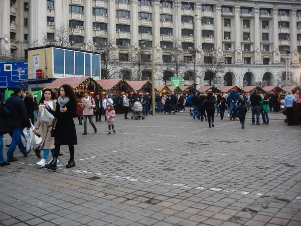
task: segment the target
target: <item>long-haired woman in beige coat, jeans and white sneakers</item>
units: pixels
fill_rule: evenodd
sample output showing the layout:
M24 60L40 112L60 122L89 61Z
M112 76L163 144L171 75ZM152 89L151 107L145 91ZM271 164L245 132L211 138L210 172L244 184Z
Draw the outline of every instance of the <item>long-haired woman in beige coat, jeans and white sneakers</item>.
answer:
M55 148L54 138L51 137L51 130L52 130L54 121L52 123L41 123L41 121L40 121L41 113L42 113L45 103L47 103L52 110L54 110L54 111L56 110L57 101L53 99L53 92L51 89L43 90L43 95L42 95L42 98L39 103L40 107L39 107L38 119L37 119L35 129L33 130L33 133L38 132L39 134L41 134L42 146L40 147L40 150L44 150L44 153L43 153L43 158L41 159L41 161L37 162L37 165L43 166L43 167L46 165L46 163L48 161L48 156L49 156L50 151L52 154L52 159L54 158L54 148Z

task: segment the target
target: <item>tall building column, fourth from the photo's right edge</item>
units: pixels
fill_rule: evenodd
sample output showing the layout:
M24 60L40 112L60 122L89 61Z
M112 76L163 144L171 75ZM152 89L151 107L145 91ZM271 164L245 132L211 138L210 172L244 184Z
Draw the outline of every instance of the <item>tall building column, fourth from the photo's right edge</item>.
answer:
M234 7L235 12L235 64L242 64L240 6Z

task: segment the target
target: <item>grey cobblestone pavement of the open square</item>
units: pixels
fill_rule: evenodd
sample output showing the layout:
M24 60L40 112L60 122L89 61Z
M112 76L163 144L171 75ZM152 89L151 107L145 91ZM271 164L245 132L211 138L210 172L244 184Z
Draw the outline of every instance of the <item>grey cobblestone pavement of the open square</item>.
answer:
M19 150L0 168L0 225L300 226L301 127L277 116L242 130L188 113L117 115L116 134L102 122L87 136L76 120L76 167L64 147L57 172Z

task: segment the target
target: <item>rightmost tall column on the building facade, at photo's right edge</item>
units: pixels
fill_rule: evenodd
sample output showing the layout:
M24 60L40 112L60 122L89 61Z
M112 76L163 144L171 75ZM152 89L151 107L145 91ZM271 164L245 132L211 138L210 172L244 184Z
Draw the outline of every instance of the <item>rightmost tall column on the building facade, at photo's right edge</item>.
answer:
M299 65L299 56L297 51L297 10L290 11L290 51L292 51L292 65Z

